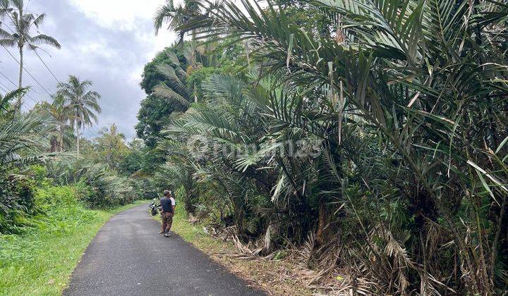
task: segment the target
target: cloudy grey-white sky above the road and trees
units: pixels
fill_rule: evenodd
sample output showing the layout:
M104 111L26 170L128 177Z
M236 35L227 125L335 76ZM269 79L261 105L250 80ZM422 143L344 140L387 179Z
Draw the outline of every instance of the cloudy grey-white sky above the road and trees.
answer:
M171 32L155 36L152 17L164 0L25 0L28 11L47 13L40 32L55 37L60 50L50 47L48 54L40 52L59 81L69 74L90 79L94 90L102 94L102 113L95 128L85 135L92 137L97 130L110 123L131 139L139 103L145 97L140 89L141 73L145 63L158 51L174 42ZM18 58L16 49L9 49ZM56 90L56 80L40 59L26 51L25 68L49 93ZM0 47L0 91L12 90L18 81L18 63ZM6 77L4 77L4 75ZM35 101L47 100L49 95L37 82L23 73L23 85L31 85L30 97ZM27 106L34 105L30 98Z

